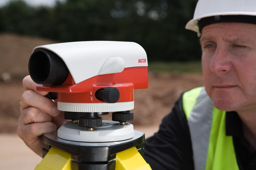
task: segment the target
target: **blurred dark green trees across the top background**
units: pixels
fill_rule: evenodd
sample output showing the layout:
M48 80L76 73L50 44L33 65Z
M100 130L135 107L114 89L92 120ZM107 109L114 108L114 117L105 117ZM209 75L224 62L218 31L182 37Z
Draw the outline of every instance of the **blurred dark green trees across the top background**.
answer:
M149 61L200 60L196 33L185 30L197 0L67 0L32 7L21 0L0 8L0 32L68 41L134 41Z

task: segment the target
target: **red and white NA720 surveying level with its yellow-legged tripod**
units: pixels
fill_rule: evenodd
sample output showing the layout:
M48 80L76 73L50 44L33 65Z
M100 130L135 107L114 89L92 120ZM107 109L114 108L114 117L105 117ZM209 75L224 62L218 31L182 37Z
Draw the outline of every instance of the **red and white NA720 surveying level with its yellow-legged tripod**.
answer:
M44 134L36 170L150 170L145 134L133 120L134 89L148 87L145 50L134 42L81 41L38 46L29 59L38 91L58 101L65 122ZM112 121L99 115L112 113Z

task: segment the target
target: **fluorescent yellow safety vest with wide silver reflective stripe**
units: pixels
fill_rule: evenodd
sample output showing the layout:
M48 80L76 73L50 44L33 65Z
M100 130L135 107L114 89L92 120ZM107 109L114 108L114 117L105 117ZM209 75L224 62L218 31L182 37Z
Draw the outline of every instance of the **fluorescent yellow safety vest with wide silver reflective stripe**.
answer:
M204 87L183 94L195 170L239 170L231 136L226 136L225 111L214 107Z

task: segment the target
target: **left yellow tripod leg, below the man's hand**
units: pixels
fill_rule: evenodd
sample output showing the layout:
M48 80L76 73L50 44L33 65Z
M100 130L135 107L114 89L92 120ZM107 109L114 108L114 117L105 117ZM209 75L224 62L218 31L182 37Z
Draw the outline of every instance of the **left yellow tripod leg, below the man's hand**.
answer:
M71 155L51 147L44 159L37 164L35 170L71 170Z

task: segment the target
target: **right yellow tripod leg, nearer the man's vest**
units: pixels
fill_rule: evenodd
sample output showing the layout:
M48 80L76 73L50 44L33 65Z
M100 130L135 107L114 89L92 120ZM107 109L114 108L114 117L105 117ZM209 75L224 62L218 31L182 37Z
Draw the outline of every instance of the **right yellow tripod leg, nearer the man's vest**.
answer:
M136 147L116 153L116 170L151 170Z

